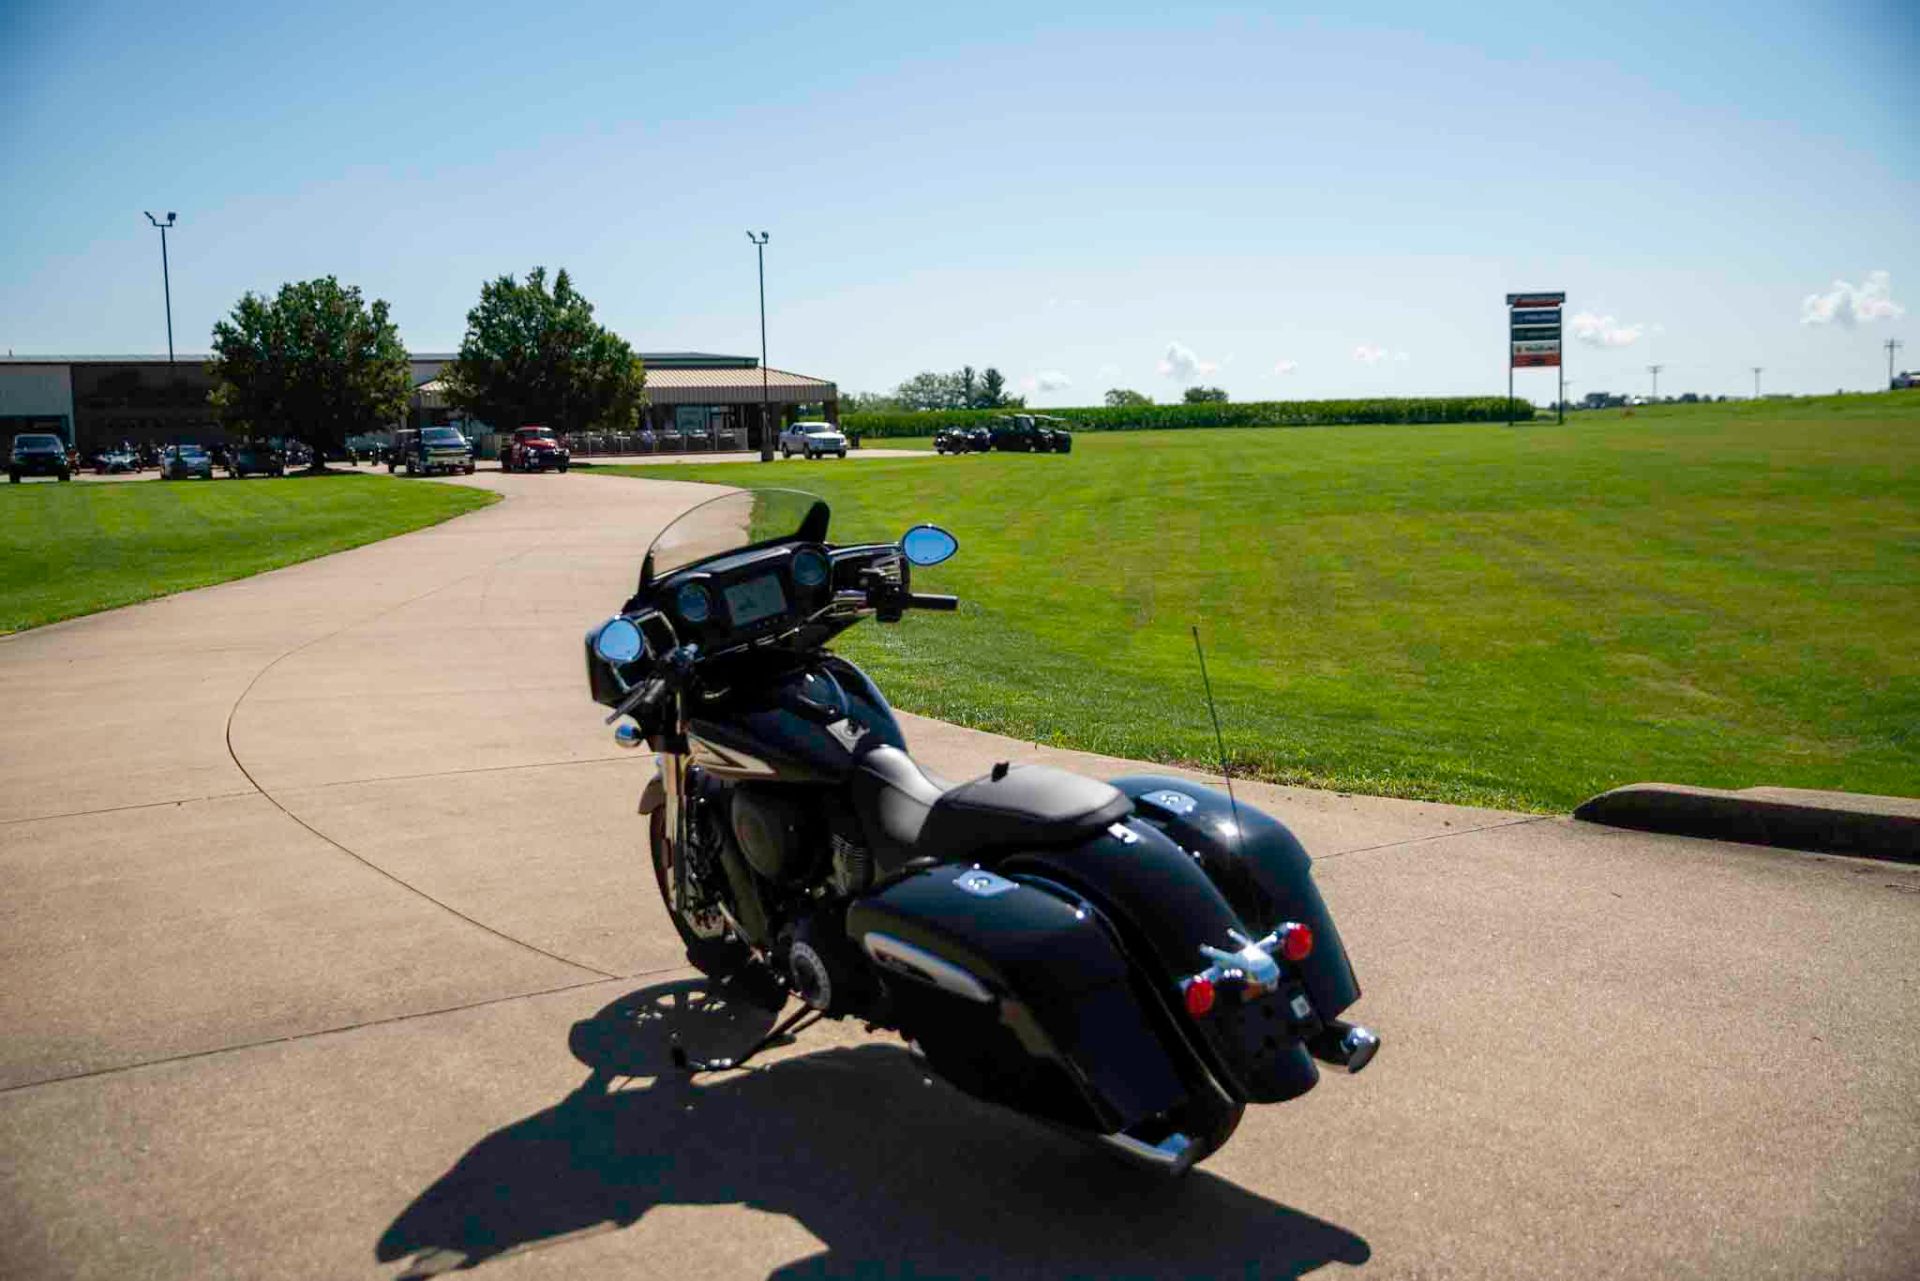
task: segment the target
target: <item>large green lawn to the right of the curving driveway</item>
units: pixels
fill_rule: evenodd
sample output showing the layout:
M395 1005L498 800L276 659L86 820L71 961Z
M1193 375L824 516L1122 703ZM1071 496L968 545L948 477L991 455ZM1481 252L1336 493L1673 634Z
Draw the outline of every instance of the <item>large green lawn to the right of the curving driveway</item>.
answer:
M843 649L900 707L1342 791L1565 810L1661 780L1920 795L1920 396L1565 426L1081 434L662 467L935 520L960 615Z

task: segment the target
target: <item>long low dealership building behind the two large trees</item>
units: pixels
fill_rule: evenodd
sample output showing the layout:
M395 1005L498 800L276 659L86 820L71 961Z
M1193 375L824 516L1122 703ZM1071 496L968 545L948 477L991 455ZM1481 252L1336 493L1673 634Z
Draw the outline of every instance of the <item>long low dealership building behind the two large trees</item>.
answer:
M751 355L641 351L639 357L647 365L643 424L662 440L705 428L707 440L730 438L756 449L762 421L776 432L803 415L839 423L839 388L826 378L772 367L762 373ZM411 426L457 423L474 436L526 426L472 423L447 405L438 378L451 351L417 351L407 359L413 365ZM0 355L0 438L54 432L83 453L121 442L211 446L228 440L207 403L211 390L205 355L173 361L165 355Z

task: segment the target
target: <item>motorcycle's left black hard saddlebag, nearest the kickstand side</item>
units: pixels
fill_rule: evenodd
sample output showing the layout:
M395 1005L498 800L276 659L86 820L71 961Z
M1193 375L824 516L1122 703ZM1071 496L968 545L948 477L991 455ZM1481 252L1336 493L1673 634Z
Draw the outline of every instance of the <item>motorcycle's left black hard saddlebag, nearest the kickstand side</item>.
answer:
M854 903L847 935L887 979L889 1022L970 1095L1116 1133L1194 1083L1116 941L1068 897L939 864Z

